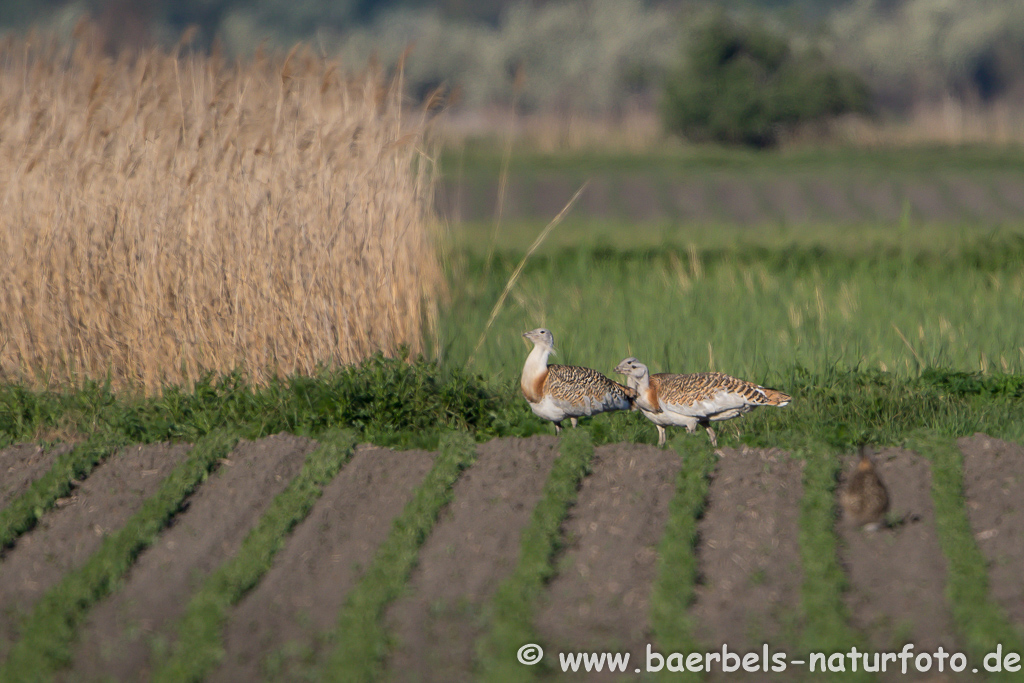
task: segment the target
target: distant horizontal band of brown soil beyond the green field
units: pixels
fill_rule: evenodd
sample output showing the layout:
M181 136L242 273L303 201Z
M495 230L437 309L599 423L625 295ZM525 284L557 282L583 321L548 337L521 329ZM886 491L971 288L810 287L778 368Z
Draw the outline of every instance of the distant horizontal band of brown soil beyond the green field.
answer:
M555 173L529 181L513 177L504 216L550 220L575 191L574 182ZM692 177L632 173L597 175L590 182L572 209L575 219L850 224L899 220L904 206L910 208L913 220L926 222L1006 222L1024 217L1024 180L1016 174L878 180L857 174L758 178L731 173ZM488 179L451 179L437 188L441 215L455 223L493 220L497 198L498 184Z

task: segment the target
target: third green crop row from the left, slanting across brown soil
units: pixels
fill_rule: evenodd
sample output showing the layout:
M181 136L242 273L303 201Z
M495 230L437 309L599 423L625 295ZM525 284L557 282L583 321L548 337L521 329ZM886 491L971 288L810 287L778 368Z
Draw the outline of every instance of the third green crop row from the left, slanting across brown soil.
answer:
M309 514L324 486L352 457L356 438L350 431L333 431L319 442L239 552L211 573L188 602L171 656L154 673L155 682L200 681L220 661L227 610L267 572L289 531Z

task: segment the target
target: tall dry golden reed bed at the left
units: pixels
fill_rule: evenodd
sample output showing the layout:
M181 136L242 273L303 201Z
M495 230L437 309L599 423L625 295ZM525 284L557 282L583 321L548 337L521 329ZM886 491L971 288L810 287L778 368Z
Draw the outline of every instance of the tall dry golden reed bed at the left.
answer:
M293 50L0 46L0 374L153 392L421 349L425 115Z

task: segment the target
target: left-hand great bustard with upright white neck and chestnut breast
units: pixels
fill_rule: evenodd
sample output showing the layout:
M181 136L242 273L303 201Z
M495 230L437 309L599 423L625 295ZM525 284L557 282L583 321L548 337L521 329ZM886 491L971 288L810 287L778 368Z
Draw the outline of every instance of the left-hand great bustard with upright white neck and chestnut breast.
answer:
M519 387L535 415L555 423L555 433L562 430L562 420L605 411L627 411L637 392L613 382L590 368L549 366L548 356L555 352L555 338L549 330L539 328L524 332L534 342L534 350L522 367Z

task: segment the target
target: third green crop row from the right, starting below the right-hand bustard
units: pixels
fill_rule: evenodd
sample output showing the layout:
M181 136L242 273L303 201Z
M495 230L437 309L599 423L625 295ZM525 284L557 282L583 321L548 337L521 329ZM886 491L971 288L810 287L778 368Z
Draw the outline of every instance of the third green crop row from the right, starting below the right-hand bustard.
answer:
M689 608L694 600L697 578L697 519L708 497L708 478L715 469L715 455L701 439L681 437L673 447L683 460L676 475L676 495L669 504L669 519L657 546L657 573L651 589L650 624L659 653L700 651L693 637ZM672 680L697 680L696 673L672 673Z

